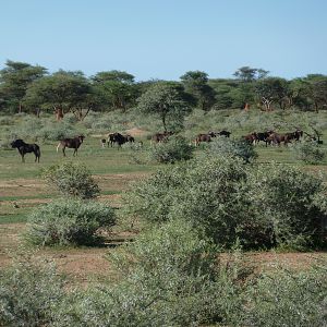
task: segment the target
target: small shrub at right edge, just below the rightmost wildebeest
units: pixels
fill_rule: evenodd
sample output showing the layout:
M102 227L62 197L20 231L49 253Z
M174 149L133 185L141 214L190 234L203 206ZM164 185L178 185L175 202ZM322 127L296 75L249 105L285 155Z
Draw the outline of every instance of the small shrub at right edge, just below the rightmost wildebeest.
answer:
M312 165L322 162L326 156L326 152L314 142L295 144L292 150L296 159Z

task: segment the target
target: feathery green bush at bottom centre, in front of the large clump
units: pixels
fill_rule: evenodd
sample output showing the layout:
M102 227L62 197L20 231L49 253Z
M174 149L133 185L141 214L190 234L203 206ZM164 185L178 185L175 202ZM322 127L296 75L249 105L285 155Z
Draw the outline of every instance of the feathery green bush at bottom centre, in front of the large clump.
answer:
M228 322L240 305L237 264L182 221L162 226L110 253L114 286L88 289L58 311L57 326L199 326ZM218 268L217 268L218 267Z

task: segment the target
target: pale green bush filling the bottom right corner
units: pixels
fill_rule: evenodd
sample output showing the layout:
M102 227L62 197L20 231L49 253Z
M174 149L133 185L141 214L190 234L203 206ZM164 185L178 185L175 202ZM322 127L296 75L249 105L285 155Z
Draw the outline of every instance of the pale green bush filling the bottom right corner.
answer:
M243 298L238 326L326 326L326 267L301 272L278 267L254 280Z

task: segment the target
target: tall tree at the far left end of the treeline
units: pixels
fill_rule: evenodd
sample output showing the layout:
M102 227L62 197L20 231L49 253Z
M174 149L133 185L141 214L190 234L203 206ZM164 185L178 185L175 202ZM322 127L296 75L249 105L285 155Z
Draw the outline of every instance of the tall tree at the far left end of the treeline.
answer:
M8 60L0 71L0 94L4 107L23 110L23 98L28 86L43 77L47 70L40 65Z

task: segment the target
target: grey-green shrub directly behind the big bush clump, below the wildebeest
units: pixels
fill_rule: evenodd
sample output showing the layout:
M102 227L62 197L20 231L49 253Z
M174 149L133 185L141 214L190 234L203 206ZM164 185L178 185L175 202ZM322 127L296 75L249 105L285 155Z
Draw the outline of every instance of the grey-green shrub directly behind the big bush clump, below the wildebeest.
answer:
M216 137L210 143L208 153L219 156L234 156L242 158L245 162L257 158L257 153L253 145L244 141L234 141L227 137Z

